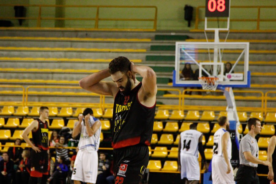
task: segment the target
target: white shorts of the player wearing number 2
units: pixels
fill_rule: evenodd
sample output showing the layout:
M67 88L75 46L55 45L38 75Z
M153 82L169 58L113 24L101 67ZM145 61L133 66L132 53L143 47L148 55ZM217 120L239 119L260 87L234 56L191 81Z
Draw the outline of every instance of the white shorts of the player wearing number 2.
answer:
M231 171L229 174L227 172L227 163L222 156L213 156L212 158L212 180L213 184L235 184L233 168L230 167Z

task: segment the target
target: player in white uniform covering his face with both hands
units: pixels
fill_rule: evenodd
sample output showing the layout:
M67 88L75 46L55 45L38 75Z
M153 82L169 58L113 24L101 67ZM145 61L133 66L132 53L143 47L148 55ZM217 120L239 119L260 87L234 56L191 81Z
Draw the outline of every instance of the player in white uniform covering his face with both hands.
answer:
M84 119L83 119L84 117ZM98 149L100 144L101 123L93 117L93 111L86 108L79 115L79 122L75 125L72 137L81 133L79 151L76 156L71 179L74 184L86 182L96 183L98 174Z

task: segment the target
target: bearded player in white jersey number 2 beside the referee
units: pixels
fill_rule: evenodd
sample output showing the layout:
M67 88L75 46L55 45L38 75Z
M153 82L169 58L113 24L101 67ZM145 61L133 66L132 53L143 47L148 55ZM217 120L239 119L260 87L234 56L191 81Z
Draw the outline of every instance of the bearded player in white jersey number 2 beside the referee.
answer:
M232 158L232 143L230 139L229 121L222 116L218 120L220 129L214 134L212 180L213 184L235 184L233 168L230 163Z

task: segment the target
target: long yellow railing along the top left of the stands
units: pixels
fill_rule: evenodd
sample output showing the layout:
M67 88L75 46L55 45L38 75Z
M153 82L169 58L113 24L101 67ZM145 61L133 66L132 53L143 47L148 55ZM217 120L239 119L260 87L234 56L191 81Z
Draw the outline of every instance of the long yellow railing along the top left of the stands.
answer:
M95 21L94 29L99 28L99 21L150 21L153 22L152 29L115 29L109 28L108 30L141 30L141 31L155 31L157 22L157 7L156 6L96 6L96 5L12 5L4 4L3 6L24 6L24 7L38 7L37 17L0 17L0 19L23 19L23 20L37 20L36 27L41 27L41 20L73 20L73 21ZM96 8L95 17L93 18L72 18L72 17L42 17L42 7L52 7L52 8ZM154 18L102 18L99 15L101 8L123 8L123 9L154 9ZM48 9L47 9L48 10ZM46 10L45 10L46 11ZM127 10L126 10L127 11ZM76 12L76 11L75 11ZM121 12L124 14L125 12ZM143 14L144 15L144 14ZM147 15L147 14L146 14Z

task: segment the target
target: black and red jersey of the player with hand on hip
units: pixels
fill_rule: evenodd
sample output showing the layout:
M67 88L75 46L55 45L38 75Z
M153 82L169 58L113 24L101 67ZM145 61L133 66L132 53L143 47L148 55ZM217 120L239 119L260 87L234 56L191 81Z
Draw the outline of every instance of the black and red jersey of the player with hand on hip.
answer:
M45 123L43 123L40 119L36 120L38 121L38 128L36 129L36 131L32 131L33 144L38 148L48 150L48 122L45 121Z

